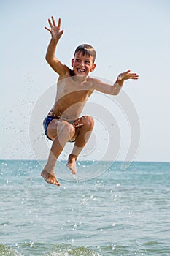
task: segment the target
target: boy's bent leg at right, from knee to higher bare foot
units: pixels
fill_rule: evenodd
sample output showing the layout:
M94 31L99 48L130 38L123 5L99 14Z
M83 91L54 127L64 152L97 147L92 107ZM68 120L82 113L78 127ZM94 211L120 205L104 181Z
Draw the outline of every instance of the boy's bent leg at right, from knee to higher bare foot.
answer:
M80 129L80 131L75 138L74 148L72 150L72 153L69 155L69 159L67 162L67 167L72 170L73 174L77 173L76 160L78 155L84 148L85 144L88 142L88 139L90 138L91 132L93 131L94 121L93 118L90 116L82 116L82 118L79 118L77 121L74 122L74 127L76 127L77 124L82 124L82 126L78 128Z

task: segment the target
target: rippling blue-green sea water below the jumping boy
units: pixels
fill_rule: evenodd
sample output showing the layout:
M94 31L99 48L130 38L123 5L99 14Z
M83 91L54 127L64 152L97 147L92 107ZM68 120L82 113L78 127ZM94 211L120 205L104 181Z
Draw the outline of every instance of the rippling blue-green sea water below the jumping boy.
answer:
M170 255L170 163L80 165L55 187L39 162L0 161L0 255Z

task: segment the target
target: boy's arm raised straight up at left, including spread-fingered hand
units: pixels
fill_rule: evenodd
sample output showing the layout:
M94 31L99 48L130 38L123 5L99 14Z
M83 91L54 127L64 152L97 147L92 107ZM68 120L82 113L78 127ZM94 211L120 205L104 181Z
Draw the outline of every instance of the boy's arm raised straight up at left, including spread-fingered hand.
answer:
M45 29L47 29L47 31L50 31L51 34L51 39L47 47L45 59L47 63L50 64L50 66L55 70L55 72L58 73L58 75L64 76L68 67L63 65L61 61L55 58L55 49L58 45L59 39L63 34L63 30L61 30L61 19L58 19L58 26L56 26L55 24L55 19L53 17L51 19L52 21L48 19L50 29L45 26Z

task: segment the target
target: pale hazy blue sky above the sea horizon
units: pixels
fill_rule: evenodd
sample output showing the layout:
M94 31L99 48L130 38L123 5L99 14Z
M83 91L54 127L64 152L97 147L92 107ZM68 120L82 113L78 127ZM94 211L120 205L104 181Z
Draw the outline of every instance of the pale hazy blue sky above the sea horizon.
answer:
M77 45L87 42L97 52L97 67L90 75L115 81L120 72L128 69L139 74L138 81L129 80L123 87L122 96L127 101L124 109L117 107L119 98L114 101L96 93L90 99L101 115L104 113L107 116L108 112L108 116L111 113L117 120L121 138L117 159L125 158L128 144L137 133L137 139L140 134L140 144L135 160L170 161L169 0L1 0L0 12L0 159L36 157L32 149L34 138L30 143L30 130L34 130L31 117L34 116L36 126L36 115L37 120L43 118L46 108L53 105L53 100L45 101L45 91L53 89L58 78L45 61L50 33L44 27L47 26L47 18L54 15L56 19L62 19L64 34L57 54L63 63L70 67ZM41 106L36 108L39 102L43 104L44 101L44 109ZM129 122L131 111L126 113L126 105L130 108L128 101L133 103L139 118L140 130L137 127L136 132L136 121L131 118ZM89 115L92 108L89 105ZM100 113L96 120L100 118ZM126 121L123 121L123 115ZM133 132L131 122L134 122ZM111 138L108 132L104 133L103 120L98 120L96 124L96 132L91 138L96 143L93 154L94 158L99 156L102 159L102 143L107 145ZM43 136L39 134L40 140L46 141ZM113 143L112 151L114 147ZM36 150L41 151L41 143Z

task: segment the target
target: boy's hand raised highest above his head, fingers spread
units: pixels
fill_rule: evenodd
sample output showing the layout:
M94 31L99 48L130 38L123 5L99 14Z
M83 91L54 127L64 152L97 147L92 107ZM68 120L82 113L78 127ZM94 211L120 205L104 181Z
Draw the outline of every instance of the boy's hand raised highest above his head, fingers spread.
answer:
M47 31L50 31L51 37L55 40L59 40L63 34L63 30L61 30L61 18L58 19L58 26L56 26L55 18L52 16L51 20L48 19L48 23L50 25L50 29L45 26Z

